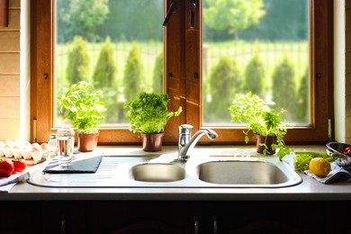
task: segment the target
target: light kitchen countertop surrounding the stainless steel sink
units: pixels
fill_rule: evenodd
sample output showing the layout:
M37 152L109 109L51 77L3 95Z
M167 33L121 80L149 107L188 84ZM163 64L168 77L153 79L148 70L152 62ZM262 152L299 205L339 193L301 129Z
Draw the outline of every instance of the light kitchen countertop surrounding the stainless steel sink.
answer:
M202 152L231 153L238 148L253 146L195 147ZM324 151L325 146L295 146L299 150ZM105 155L140 155L140 147L100 147ZM162 154L175 152L173 146L164 146ZM43 165L29 168L31 173ZM351 184L321 184L308 175L299 173L302 183L282 188L193 188L193 187L115 187L115 188L64 188L41 187L26 182L16 184L10 193L0 193L2 201L340 201L351 200Z

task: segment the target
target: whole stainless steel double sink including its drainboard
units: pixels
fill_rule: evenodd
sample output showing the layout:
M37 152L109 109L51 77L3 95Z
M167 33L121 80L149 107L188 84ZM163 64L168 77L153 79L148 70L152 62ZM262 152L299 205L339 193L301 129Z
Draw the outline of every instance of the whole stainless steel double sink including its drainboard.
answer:
M259 187L300 184L302 178L277 157L194 155L180 162L176 154L104 156L94 174L45 174L31 184L49 187Z

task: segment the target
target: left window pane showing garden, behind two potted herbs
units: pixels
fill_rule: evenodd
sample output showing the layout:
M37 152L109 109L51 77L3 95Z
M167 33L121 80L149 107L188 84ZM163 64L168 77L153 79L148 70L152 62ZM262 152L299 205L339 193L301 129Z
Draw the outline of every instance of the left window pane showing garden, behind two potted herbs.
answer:
M54 2L54 125L68 123L57 96L85 80L103 91L101 126L128 126L124 103L163 93L164 0Z

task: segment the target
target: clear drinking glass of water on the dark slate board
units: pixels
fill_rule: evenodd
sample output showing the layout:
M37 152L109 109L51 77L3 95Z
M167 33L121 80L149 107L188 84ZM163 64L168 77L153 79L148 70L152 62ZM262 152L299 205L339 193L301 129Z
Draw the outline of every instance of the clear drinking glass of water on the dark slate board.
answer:
M73 149L75 147L75 131L73 128L59 128L58 139L58 165L71 166Z

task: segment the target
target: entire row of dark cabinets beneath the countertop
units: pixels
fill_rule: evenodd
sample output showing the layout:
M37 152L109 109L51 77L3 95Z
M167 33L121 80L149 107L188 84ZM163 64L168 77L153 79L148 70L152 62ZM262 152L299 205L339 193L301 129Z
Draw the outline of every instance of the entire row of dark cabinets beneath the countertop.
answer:
M348 201L1 202L0 233L351 233Z

